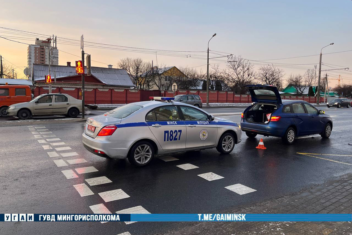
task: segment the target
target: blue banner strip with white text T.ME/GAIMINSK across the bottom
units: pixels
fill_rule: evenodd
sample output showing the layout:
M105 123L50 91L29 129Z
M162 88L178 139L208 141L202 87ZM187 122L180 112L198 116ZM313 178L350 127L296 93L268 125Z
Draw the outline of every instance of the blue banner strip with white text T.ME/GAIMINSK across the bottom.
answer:
M352 214L0 214L0 222L200 222L200 221L341 221Z

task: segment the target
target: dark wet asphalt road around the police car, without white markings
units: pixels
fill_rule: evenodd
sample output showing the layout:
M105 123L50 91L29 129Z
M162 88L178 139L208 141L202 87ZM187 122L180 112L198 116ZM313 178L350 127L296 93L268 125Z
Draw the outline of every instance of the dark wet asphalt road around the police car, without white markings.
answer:
M263 137L266 150L258 150L260 137L251 140L243 132L242 142L230 155L215 149L172 154L179 159L153 159L150 165L137 168L127 160L104 159L89 153L81 144L83 122L45 124L55 137L34 138L27 125L2 126L0 139L0 211L1 213L79 213L90 214L89 206L103 203L112 213L143 206L150 213L229 212L243 205L279 197L321 184L352 169L352 109L319 107L334 119L332 135L302 138L293 145L283 145L280 138ZM244 108L212 108L215 116L240 121ZM30 125L39 126L37 123ZM39 134L40 135L40 134ZM42 136L40 135L40 136ZM62 146L78 156L62 159L85 159L87 162L57 167L38 140L60 138ZM310 153L316 155L302 155ZM318 155L322 154L322 155ZM338 156L349 155L349 156ZM316 158L313 156L318 156ZM333 160L333 161L330 161ZM338 162L334 162L338 161ZM191 163L199 168L183 170L176 165ZM61 171L94 166L98 171L77 174L66 179ZM198 174L213 172L224 178L207 181ZM73 185L84 179L105 176L112 183L89 186L94 195L81 197ZM226 186L242 184L256 191L244 195ZM99 192L122 189L130 197L104 202ZM0 234L104 234L132 235L163 233L181 223L137 222L6 222L0 223Z

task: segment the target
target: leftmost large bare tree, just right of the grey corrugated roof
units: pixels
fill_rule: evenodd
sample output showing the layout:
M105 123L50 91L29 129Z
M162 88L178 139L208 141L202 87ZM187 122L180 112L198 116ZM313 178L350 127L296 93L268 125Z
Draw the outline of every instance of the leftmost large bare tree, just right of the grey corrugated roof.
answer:
M148 63L144 62L141 58L126 57L122 58L117 63L117 67L127 70L127 72L132 76L136 88L144 88L144 83L146 81L140 79L140 77L150 68Z

